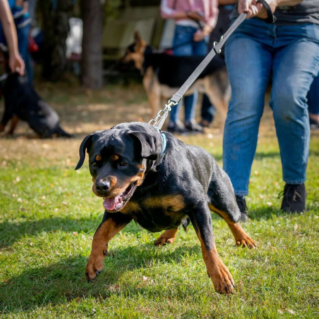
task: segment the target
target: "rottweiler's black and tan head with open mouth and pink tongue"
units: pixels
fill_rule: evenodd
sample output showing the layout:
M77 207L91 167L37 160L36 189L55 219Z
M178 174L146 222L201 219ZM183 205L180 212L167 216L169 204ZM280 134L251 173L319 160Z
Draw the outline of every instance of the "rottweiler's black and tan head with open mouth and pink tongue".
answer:
M93 193L104 198L105 210L115 212L128 203L145 174L157 165L162 139L156 128L140 122L94 132L83 139L75 169L83 165L86 150Z

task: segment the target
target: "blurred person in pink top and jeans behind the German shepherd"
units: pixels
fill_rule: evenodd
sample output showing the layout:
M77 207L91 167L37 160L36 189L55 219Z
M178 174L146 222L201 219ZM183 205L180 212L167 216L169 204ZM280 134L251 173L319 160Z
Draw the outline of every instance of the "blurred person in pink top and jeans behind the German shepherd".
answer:
M208 36L217 22L217 0L162 0L161 16L175 20L173 54L175 56L205 56ZM185 125L180 121L181 102L173 107L168 124L169 132L203 132L195 121L198 93L184 97Z

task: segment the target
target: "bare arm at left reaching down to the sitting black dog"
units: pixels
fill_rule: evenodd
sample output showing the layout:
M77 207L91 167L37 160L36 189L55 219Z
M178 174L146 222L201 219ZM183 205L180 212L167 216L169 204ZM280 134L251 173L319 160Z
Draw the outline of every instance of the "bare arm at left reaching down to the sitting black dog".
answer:
M24 62L19 55L16 27L7 0L0 0L0 21L9 50L9 67L12 72L24 73Z

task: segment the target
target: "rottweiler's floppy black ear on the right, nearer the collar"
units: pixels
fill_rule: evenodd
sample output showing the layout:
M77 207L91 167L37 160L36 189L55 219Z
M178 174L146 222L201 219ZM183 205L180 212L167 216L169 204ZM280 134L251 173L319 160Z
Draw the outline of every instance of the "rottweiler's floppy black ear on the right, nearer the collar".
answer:
M139 131L130 131L129 135L137 141L141 157L151 160L158 158L156 137L154 135Z

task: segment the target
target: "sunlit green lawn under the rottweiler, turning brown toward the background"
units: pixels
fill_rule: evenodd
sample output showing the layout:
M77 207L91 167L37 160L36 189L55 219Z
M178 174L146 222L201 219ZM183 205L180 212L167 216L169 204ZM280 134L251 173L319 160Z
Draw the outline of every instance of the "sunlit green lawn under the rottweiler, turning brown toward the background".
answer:
M39 92L74 138L26 139L30 130L20 123L14 137L0 139L1 318L319 317L318 133L312 132L310 143L307 212L282 213L279 149L265 108L244 225L257 248L235 247L226 223L212 213L234 295L214 292L191 225L178 231L173 245L158 248L153 241L159 234L131 222L110 241L104 271L88 283L84 269L103 206L92 193L87 162L74 170L78 147L94 130L148 121L148 104L140 85L83 92L39 84ZM180 138L221 164L218 128Z

